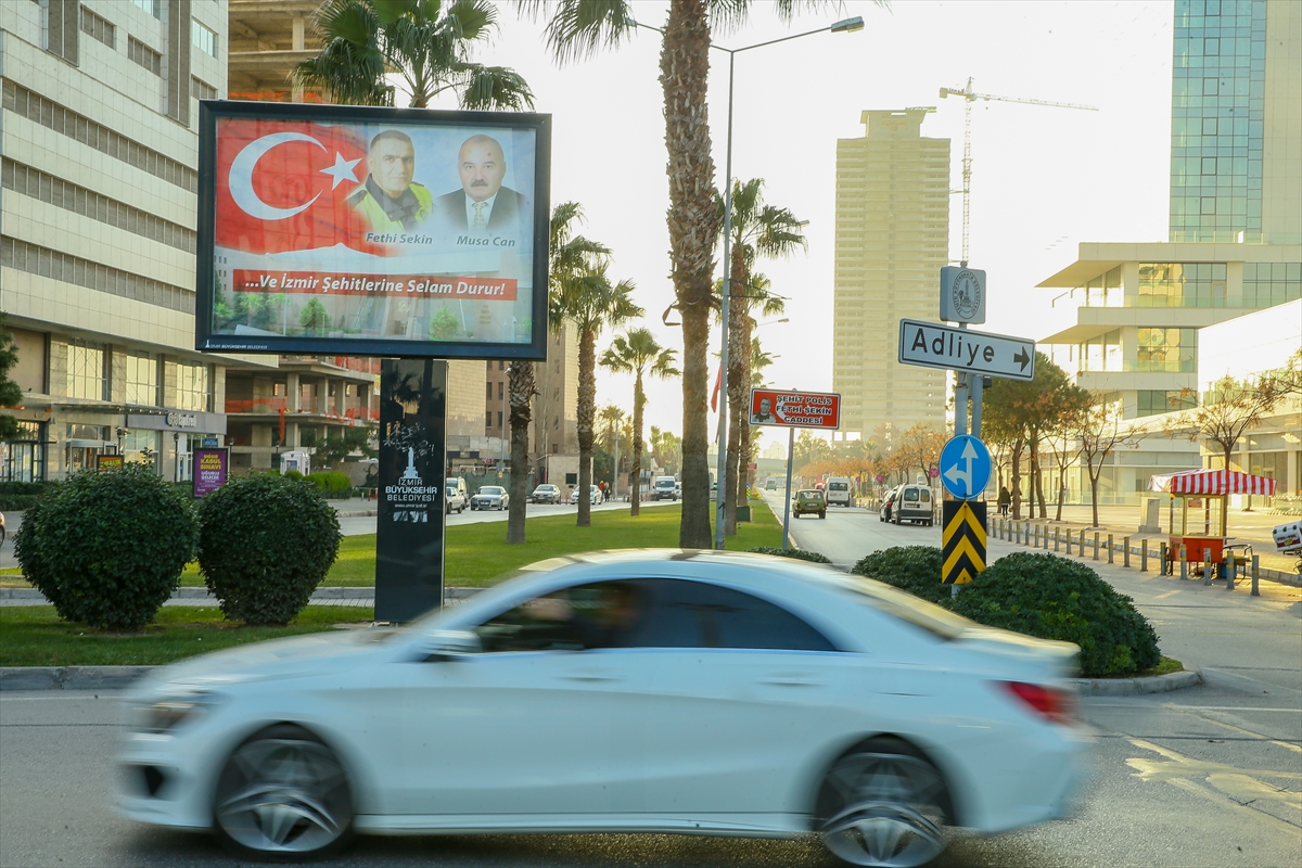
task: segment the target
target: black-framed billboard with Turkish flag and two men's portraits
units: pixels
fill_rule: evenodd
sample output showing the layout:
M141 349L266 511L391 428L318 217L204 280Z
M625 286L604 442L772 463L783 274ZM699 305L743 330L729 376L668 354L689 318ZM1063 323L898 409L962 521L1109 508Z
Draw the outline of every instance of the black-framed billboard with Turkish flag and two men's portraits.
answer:
M551 116L199 104L195 346L543 359Z

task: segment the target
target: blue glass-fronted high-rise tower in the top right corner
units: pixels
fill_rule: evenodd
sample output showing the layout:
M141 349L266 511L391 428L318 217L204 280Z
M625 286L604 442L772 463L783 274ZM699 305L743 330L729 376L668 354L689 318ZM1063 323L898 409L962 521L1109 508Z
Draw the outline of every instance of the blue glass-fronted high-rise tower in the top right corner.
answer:
M1302 238L1295 0L1176 0L1170 241Z

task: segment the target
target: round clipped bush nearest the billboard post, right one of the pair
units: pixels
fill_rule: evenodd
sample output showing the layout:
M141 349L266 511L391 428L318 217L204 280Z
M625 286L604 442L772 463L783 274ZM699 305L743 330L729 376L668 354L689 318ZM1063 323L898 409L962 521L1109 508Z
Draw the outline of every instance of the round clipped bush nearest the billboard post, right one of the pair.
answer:
M335 509L288 474L232 479L198 515L203 582L232 621L289 623L339 554Z

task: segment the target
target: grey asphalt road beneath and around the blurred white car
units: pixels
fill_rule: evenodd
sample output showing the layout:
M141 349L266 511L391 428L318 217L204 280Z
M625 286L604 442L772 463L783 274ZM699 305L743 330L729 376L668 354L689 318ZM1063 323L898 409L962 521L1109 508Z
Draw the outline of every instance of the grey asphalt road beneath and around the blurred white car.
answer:
M467 513L466 515L470 515ZM477 514L478 515L478 514ZM797 541L848 563L884 545L937 544L939 528L881 524L865 510L801 519ZM1013 550L992 543L992 554ZM1092 563L1091 563L1092 566ZM1135 597L1163 649L1211 686L1083 700L1098 742L1078 816L960 835L934 865L1057 868L1297 865L1302 854L1302 603L1121 567L1100 574ZM1292 595L1292 596L1290 596ZM214 838L112 812L115 694L0 695L0 867L234 865ZM810 841L674 835L363 838L335 865L812 867Z

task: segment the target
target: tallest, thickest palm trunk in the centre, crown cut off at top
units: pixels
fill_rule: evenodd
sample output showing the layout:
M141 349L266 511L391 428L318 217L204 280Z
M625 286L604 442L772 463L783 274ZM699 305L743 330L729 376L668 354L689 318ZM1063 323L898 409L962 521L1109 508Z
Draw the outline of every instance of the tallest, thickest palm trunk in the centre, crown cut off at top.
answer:
M560 62L616 48L637 29L630 0L519 0L534 14L548 13L546 39ZM749 0L669 0L660 49L665 146L669 151L671 275L682 316L682 523L684 548L708 548L710 534L710 311L713 308L713 247L719 213L713 206L707 78L711 26L736 27L750 13ZM816 0L777 0L772 8L789 21ZM727 182L727 181L725 181ZM724 480L719 480L723 485Z

